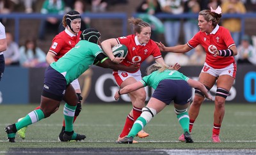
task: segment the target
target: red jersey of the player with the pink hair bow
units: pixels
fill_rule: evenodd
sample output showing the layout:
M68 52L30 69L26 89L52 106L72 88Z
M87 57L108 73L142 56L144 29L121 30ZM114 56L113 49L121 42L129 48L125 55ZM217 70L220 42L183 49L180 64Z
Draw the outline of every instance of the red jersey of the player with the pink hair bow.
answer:
M199 31L191 40L188 41L187 44L191 48L195 48L199 44L202 45L206 52L205 63L212 68L225 68L235 62L234 57L214 57L213 54L209 52L209 47L211 45L214 45L218 50L227 50L235 45L228 29L222 26L217 25L210 34Z

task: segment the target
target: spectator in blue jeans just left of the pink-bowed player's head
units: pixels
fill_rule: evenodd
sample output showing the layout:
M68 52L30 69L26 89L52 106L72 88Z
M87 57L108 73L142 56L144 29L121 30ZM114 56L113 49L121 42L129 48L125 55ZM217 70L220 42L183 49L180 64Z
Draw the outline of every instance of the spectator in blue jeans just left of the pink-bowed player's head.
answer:
M184 3L184 13L199 13L200 4L197 0L190 0ZM184 31L184 41L188 43L189 40L198 32L198 20L196 18L188 18L184 21L183 31ZM186 55L191 56L195 52L194 49L186 53Z

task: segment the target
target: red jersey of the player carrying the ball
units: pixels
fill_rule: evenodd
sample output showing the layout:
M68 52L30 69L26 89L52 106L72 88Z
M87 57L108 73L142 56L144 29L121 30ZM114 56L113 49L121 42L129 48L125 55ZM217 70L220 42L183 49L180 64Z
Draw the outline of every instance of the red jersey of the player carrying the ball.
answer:
M141 65L149 55L153 55L155 59L162 57L159 47L153 40L149 40L147 44L144 43L141 45L137 36L131 34L129 36L116 38L116 41L120 44L124 44L128 48L129 52L121 63L125 66L130 66L131 64ZM140 68L138 70L140 70Z

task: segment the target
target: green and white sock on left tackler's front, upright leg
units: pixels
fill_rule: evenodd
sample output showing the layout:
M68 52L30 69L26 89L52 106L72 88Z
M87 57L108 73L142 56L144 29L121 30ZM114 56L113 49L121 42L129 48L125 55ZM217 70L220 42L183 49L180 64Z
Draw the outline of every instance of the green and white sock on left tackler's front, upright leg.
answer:
M74 115L76 112L76 106L68 105L67 103L64 106L63 114L65 119L65 131L71 132L73 131L73 121Z

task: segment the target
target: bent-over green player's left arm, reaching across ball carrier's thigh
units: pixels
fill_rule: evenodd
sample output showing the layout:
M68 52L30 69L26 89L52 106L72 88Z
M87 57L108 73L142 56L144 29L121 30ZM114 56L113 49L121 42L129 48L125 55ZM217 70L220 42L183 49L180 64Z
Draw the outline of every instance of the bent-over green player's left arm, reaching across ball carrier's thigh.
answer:
M134 84L126 85L124 88L116 91L115 96L114 96L115 100L118 100L118 98L120 98L120 95L122 95L122 94L127 94L129 92L136 91L142 87L144 87L144 85L140 81L135 82Z

